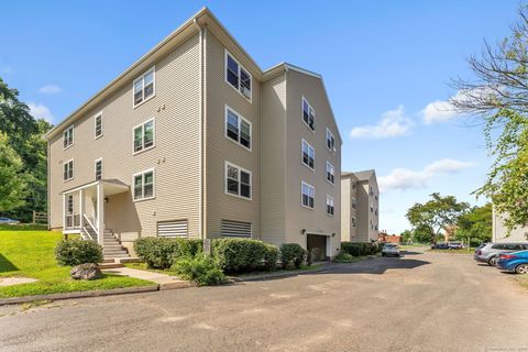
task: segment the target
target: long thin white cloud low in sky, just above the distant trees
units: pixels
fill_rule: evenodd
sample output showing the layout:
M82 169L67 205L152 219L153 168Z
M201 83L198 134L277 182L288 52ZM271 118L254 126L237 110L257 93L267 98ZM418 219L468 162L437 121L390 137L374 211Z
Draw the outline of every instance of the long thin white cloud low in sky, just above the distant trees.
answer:
M472 166L474 166L473 163L443 158L427 165L421 170L394 168L388 175L380 177L380 189L387 193L391 190L424 188L439 174L455 174Z

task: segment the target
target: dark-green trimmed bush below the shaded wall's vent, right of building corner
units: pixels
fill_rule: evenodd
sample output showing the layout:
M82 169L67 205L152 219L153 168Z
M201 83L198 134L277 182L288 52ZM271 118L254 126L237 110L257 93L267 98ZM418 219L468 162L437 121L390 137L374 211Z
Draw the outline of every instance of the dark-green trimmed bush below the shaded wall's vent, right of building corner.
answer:
M224 273L255 271L267 253L266 244L251 239L216 239L212 241L213 257Z

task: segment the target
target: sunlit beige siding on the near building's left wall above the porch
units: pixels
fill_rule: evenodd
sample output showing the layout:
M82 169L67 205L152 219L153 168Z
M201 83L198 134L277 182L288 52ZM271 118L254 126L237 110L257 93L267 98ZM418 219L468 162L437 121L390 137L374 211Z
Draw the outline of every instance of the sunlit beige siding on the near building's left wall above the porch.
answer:
M63 151L62 133L51 141L51 227L62 226L61 193L92 182L94 162L105 161L103 178L132 185L132 175L155 169L155 199L132 202L131 193L111 196L106 226L118 234L155 235L157 221L188 219L198 234L199 38L195 34L155 63L155 97L133 108L132 81L75 121L75 144ZM136 77L134 77L136 78ZM94 140L94 117L103 111L105 134ZM155 119L155 147L132 155L132 129ZM62 162L75 158L75 178L63 183ZM140 234L140 233L138 233ZM130 233L128 234L130 237Z

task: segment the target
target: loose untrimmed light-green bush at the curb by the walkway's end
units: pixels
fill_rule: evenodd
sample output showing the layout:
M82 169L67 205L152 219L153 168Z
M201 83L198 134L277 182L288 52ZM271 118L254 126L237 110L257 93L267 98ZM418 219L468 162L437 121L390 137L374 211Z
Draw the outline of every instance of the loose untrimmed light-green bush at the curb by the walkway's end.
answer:
M180 278L195 282L200 286L218 285L226 280L226 275L217 263L204 253L194 257L184 256L176 260L172 270Z

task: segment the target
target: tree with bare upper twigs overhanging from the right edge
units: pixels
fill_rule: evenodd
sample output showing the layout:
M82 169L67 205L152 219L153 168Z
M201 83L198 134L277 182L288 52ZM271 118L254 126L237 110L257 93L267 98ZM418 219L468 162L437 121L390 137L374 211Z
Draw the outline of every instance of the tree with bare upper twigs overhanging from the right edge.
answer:
M475 114L484 124L486 145L494 163L477 196L486 196L508 230L528 226L528 8L501 44L484 43L469 65L476 78L453 81L459 94L451 103Z

